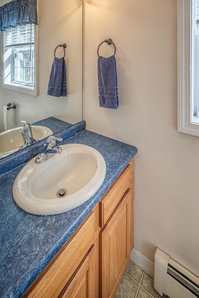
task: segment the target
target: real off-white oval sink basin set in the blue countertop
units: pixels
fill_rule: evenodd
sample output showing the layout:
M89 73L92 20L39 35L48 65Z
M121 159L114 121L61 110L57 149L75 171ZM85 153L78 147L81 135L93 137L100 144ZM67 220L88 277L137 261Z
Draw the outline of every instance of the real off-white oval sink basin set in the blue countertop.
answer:
M17 175L13 197L31 214L59 214L83 204L99 189L106 174L103 156L81 144L61 145L62 153L40 164L34 157ZM62 189L67 191L58 197Z

